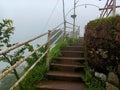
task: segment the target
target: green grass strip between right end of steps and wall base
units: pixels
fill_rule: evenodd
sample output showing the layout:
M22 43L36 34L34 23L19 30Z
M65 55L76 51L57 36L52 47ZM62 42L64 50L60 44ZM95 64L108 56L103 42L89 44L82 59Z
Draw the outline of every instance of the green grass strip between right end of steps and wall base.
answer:
M91 71L90 71L90 66L87 62L87 50L85 50L85 77L84 77L84 81L86 84L86 90L106 90L105 89L105 81L96 78L92 75Z

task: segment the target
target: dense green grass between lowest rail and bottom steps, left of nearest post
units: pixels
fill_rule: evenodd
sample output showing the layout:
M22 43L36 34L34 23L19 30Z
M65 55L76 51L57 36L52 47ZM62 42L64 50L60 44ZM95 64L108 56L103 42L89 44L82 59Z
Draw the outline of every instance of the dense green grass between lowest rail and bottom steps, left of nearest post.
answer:
M38 63L29 75L22 81L23 90L36 90L36 85L45 79L46 66L45 61Z

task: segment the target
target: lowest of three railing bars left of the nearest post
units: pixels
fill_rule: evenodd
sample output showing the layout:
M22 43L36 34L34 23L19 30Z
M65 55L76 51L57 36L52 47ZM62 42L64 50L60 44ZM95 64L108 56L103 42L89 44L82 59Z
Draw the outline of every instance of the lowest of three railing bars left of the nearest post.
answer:
M15 87L19 85L19 83L29 74L29 72L37 65L38 62L47 54L48 50L24 73L23 76L10 88L10 90L13 90Z

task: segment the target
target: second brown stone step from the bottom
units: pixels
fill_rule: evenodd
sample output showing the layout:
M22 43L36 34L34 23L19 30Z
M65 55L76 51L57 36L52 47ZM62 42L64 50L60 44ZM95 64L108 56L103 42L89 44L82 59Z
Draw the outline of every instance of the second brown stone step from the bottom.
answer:
M83 72L68 72L68 71L49 71L47 73L49 80L64 80L64 81L83 81Z

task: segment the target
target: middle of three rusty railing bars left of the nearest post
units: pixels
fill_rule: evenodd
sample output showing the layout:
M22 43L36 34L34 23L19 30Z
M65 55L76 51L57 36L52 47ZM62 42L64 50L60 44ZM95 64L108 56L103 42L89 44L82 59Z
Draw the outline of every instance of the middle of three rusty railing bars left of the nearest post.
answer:
M34 54L36 51L38 51L41 47L46 45L48 42L42 44L42 46L36 48L34 51L30 52L28 55L26 55L24 58L17 61L13 66L9 67L7 70L5 70L3 73L0 74L0 79L4 78L6 75L8 75L13 69L18 67L22 62L24 62L28 57L30 57L32 54Z

